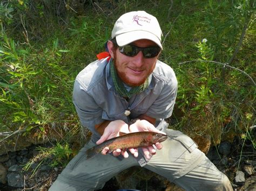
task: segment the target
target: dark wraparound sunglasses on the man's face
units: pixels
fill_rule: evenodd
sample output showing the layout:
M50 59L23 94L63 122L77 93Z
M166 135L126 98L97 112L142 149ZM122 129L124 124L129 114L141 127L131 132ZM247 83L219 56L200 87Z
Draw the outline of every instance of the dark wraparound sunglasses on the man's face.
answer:
M125 45L125 46L119 46L119 52L126 55L126 56L136 56L139 51L142 51L144 58L154 58L156 57L160 51L161 48L158 46L150 46L150 47L145 47L141 48L138 46L134 45Z

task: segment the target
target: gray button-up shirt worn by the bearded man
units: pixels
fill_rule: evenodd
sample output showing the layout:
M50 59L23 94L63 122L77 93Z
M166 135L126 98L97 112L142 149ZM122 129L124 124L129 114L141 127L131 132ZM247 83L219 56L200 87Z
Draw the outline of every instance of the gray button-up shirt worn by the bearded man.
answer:
M173 69L161 61L150 75L150 85L142 93L125 100L114 89L107 59L97 60L86 66L76 77L73 103L83 126L92 132L96 142L100 135L95 125L105 120L121 119L128 123L139 115L157 119L156 127L165 131L177 95L177 79ZM125 110L131 114L126 116Z

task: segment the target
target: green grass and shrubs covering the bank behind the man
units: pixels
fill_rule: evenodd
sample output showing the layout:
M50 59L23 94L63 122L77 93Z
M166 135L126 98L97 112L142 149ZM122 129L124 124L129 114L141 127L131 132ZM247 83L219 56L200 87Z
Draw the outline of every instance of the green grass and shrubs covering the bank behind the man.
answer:
M160 60L178 78L170 128L210 135L213 144L239 136L256 148L255 9L252 0L2 2L1 144L15 143L17 135L53 138L59 140L57 151L75 135L83 140L72 104L75 77L104 51L120 15L145 10L163 31ZM56 158L75 153L63 149Z

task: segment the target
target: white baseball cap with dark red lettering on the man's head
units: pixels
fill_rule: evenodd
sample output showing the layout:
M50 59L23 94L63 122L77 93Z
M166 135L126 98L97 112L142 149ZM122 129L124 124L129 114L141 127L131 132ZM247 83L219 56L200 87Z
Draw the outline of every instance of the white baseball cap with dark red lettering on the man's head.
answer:
M140 39L154 41L161 49L162 32L156 17L145 11L127 12L117 19L112 30L118 46L124 46Z

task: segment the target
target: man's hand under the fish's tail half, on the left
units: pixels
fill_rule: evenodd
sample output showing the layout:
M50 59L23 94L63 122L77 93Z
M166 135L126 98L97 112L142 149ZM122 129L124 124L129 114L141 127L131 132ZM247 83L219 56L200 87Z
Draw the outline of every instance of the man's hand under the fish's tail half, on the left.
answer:
M129 133L129 126L122 120L112 121L106 126L102 137L100 137L100 139L96 142L96 144L103 143L105 140L108 140L114 137L119 137L120 132ZM105 155L107 153L109 153L109 147L103 148L102 154ZM122 151L119 148L113 151L114 157L117 157L120 154L122 154L124 158L129 157L129 154L127 153L127 151Z

